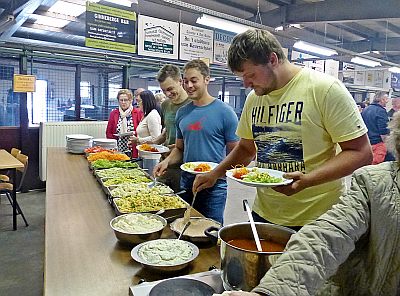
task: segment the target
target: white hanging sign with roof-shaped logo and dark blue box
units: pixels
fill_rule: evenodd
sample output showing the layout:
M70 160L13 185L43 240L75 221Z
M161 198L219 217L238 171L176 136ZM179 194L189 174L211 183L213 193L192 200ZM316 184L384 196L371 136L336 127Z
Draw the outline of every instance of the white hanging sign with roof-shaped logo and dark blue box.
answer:
M139 15L138 54L178 59L179 24Z

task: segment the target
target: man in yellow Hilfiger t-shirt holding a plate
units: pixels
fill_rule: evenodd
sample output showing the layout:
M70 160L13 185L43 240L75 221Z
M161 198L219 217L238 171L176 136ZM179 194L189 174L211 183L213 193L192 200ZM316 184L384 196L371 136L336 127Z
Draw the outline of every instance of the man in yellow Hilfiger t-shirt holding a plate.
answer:
M241 139L216 169L196 177L193 190L212 186L227 169L257 156L257 166L284 171L294 181L257 188L255 220L298 229L338 201L342 177L371 163L367 128L339 80L291 64L267 31L237 35L228 65L252 88L237 129Z

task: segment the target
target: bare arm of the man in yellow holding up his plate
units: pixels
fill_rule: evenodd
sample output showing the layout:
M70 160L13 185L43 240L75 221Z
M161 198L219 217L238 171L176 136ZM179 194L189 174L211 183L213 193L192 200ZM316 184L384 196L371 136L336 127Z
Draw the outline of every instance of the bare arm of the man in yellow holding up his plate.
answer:
M348 176L356 169L371 164L372 150L367 134L339 145L342 151L312 172L303 174L297 171L284 174L285 178L294 181L289 185L274 187L274 190L292 195L305 188Z

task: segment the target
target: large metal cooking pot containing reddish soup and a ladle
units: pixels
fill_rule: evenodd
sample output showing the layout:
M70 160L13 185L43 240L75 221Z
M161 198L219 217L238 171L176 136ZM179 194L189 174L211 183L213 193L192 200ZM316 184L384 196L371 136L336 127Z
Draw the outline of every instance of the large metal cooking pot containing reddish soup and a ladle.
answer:
M269 223L255 223L260 239L286 245L294 230ZM215 230L215 229L214 229ZM212 229L206 230L209 235ZM251 239L250 223L237 223L218 231L221 242L221 277L225 290L251 291L283 252L257 252L240 249L228 242Z

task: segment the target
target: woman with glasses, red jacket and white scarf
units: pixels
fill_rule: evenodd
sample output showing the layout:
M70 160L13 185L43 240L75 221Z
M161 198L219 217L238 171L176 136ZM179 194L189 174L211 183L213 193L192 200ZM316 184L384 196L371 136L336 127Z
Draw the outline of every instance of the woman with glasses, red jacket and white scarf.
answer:
M129 89L121 89L118 92L117 100L118 109L114 109L110 113L108 119L106 137L108 139L117 139L118 150L122 152L132 152L132 157L138 156L136 146L132 150L128 147L129 135L116 136L116 134L124 134L133 132L135 134L139 122L143 118L143 112L132 106L133 95Z

